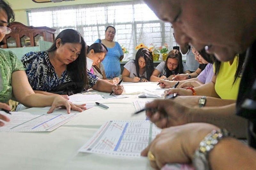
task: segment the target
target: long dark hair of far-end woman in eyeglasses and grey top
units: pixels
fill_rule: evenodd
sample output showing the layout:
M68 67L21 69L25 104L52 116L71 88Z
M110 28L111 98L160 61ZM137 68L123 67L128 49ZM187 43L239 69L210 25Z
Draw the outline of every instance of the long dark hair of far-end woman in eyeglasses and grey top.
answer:
M168 67L167 67L168 58L173 58L173 59L178 60L178 66L175 70L169 70L168 69ZM168 55L166 57L166 60L165 60L165 63L164 63L164 70L166 71L166 77L169 77L172 74L181 74L181 73L183 73L182 55L181 55L180 51L178 51L176 49L173 49L168 53Z

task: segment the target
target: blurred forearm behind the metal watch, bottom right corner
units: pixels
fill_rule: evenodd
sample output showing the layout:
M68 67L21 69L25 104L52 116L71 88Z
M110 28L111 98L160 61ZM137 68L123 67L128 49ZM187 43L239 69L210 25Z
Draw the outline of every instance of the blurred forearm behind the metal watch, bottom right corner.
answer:
M227 137L220 140L209 153L212 170L256 169L256 152L238 140Z

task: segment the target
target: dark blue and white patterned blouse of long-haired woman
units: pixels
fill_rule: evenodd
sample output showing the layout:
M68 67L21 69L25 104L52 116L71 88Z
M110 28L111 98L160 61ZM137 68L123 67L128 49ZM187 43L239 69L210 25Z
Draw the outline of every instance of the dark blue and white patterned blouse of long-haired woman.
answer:
M21 62L25 67L28 81L33 90L50 92L60 84L71 82L72 79L67 70L59 78L52 66L48 52L29 52L22 56ZM87 72L89 88L94 86L98 77L91 72Z

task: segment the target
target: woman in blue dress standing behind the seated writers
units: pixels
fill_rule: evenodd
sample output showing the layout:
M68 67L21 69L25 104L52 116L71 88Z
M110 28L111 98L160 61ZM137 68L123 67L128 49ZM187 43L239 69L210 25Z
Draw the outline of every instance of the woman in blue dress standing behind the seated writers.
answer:
M118 42L113 41L116 35L116 28L108 26L105 30L105 39L96 40L108 48L108 53L102 61L107 78L118 77L121 74L120 61L124 58L124 53Z

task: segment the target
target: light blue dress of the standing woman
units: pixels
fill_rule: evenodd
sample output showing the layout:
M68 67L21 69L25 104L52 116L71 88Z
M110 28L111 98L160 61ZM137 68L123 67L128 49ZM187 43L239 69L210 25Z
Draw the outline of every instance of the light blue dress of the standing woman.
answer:
M101 42L101 40L98 39L94 43L97 42ZM121 74L120 56L122 55L124 55L124 53L118 42L115 42L113 48L108 48L108 53L102 61L107 78L118 77Z

